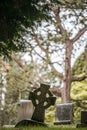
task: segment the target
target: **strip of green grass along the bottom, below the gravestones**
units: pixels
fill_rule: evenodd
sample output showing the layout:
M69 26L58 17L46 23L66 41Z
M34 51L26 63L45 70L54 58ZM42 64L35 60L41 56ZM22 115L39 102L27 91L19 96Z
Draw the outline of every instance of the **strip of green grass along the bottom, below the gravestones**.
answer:
M61 125L61 126L50 126L50 127L20 127L20 128L0 128L0 130L87 130L87 127L84 128L76 128L75 125Z

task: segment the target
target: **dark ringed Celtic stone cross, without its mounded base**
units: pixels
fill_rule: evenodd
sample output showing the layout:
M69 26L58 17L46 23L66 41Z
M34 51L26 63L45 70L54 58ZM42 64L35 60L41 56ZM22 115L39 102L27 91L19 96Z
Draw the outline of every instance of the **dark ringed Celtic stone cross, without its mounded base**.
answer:
M41 84L39 88L30 92L29 100L35 107L32 120L44 122L45 109L55 104L56 97L53 96L49 88L49 85Z

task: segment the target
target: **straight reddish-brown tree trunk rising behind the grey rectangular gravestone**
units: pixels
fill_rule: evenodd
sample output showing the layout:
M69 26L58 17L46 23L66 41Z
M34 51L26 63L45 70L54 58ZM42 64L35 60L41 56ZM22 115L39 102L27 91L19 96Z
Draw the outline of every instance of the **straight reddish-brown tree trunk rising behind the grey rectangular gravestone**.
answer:
M70 88L71 88L71 53L72 53L72 44L70 41L66 43L66 52L65 52L65 77L64 77L64 86L61 89L62 103L70 103Z

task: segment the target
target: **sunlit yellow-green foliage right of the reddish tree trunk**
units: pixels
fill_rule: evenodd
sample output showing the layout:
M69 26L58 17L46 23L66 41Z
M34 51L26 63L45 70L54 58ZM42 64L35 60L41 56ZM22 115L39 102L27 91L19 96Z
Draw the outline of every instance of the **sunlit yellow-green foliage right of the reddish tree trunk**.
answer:
M73 75L80 76L87 72L86 56L87 52L85 51L76 59L72 68ZM74 120L80 122L81 111L87 109L87 78L81 82L72 83L71 98L74 103Z

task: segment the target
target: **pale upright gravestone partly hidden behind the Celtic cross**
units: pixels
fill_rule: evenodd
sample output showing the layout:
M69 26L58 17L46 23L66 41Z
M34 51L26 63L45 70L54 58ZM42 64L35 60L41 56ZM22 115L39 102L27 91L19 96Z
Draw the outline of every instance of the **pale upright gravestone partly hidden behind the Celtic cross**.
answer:
M34 112L34 106L31 100L20 100L18 106L18 121L31 119Z

